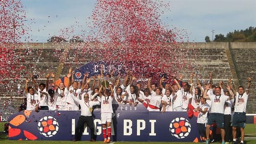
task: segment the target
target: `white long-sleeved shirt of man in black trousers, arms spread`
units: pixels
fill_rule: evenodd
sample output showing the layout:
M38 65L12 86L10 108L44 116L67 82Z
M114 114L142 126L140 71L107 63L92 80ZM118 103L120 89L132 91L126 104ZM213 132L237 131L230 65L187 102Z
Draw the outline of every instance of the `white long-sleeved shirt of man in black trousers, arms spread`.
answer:
M72 99L74 99L77 103L81 106L81 115L83 116L92 116L92 112L90 111L90 107L92 108L94 105L99 105L99 101L91 101L88 100L88 102L85 102L84 100L79 100L77 97L74 96L74 94L70 94Z

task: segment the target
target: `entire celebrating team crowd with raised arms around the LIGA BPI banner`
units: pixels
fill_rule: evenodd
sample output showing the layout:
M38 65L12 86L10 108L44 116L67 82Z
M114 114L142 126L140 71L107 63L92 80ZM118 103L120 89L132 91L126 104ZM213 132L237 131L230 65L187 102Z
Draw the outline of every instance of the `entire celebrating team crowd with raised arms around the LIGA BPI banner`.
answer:
M101 121L104 142L110 142L112 104L144 105L152 111L159 112L199 112L198 129L206 144L210 142L210 127L216 123L220 128L222 144L230 141L230 124L232 121L233 144L237 143L237 128L241 131L241 142L244 140L244 128L246 120L246 103L251 83L251 78L247 78L248 84L244 88L238 87L236 91L232 86L232 80L228 79L224 91L223 81L219 86L212 83L212 73L209 74L209 81L202 85L196 74L190 75L190 81L184 82L183 76L176 78L171 76L171 83L166 81L167 77L160 77L159 84L152 83L152 78L148 78L146 86L137 82L132 71L127 71L123 83L120 75L113 78L112 74L104 76L103 65L100 66L100 73L89 78L89 74L84 74L82 83L74 81L74 71L69 69L67 74L68 83L55 84L55 74L50 72L46 75L46 84L41 83L39 87L31 74L34 88L28 86L29 79L26 79L25 103L19 110L81 110L78 124L75 129L74 141L79 141L83 133L83 125L87 123L91 130L91 141L94 140L94 126L92 121L92 107L101 105ZM52 78L53 86L49 88L49 79ZM193 83L193 77L196 83ZM97 78L97 87L96 85ZM92 85L90 82L93 80ZM232 118L233 116L233 118ZM108 131L108 133L106 133Z

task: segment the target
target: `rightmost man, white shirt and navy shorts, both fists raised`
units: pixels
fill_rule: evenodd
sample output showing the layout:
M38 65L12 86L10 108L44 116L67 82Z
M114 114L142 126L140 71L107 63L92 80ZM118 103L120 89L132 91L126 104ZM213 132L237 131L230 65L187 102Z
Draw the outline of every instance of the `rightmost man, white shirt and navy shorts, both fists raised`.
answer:
M243 144L243 140L245 138L245 121L246 121L246 104L248 100L248 94L251 84L251 78L247 78L247 86L244 90L243 86L238 87L238 92L232 86L231 79L228 80L230 88L232 92L236 95L235 96L235 113L233 115L232 120L232 133L233 133L233 142L232 144L237 144L236 135L237 135L237 128L241 130L241 142Z

